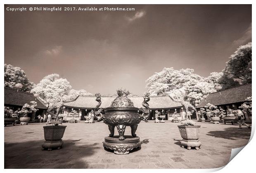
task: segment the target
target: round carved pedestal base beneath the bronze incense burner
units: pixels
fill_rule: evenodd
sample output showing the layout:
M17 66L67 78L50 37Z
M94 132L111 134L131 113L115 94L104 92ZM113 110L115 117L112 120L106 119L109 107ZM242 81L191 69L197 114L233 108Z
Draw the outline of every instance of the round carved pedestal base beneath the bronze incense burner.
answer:
M129 154L129 152L141 146L140 137L125 136L119 140L119 136L105 137L103 147L114 150L115 154Z

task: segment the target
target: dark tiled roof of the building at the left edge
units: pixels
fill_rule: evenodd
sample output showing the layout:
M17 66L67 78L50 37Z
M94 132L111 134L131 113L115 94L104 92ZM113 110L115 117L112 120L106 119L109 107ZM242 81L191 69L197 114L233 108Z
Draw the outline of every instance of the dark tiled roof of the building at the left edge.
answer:
M47 109L47 107L32 93L19 91L16 89L5 87L5 104L23 106L25 103L29 104L31 101L37 102L38 109Z

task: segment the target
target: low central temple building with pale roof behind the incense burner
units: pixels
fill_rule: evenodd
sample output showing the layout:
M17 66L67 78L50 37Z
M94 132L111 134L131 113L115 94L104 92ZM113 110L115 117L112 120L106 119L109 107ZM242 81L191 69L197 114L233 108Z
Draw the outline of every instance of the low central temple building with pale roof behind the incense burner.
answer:
M103 109L109 107L111 102L116 98L116 95L101 96L101 106ZM141 108L143 97L132 96L128 97L134 104L135 107ZM64 102L64 120L69 120L70 118L76 118L78 121L85 120L86 116L90 111L92 111L98 102L95 101L95 96L78 96L75 100L71 102ZM175 116L180 119L180 113L183 111L182 105L178 102L174 102L169 96L152 96L150 97L149 108L150 117L148 120L155 120L155 111L158 110L161 114L166 116L166 120L172 120ZM77 114L72 114L72 111L76 111ZM174 114L176 111L176 114Z

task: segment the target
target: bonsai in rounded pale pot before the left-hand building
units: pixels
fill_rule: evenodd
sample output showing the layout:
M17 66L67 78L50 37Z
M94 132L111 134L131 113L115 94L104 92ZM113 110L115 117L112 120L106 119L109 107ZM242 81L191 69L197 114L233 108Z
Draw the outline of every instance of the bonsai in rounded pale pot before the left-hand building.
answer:
M28 114L38 111L38 109L35 108L36 106L37 103L35 101L31 101L30 104L24 104L20 111L15 111L16 114L19 114L19 121L21 122L21 125L28 124L28 121L30 121Z

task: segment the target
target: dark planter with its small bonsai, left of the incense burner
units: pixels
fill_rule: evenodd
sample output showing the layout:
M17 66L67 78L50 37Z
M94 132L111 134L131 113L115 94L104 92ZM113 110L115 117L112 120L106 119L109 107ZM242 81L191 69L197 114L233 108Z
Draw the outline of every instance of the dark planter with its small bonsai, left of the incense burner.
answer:
M54 108L48 108L47 113L54 114ZM48 151L51 151L52 148L60 149L63 145L62 137L64 135L66 126L59 126L59 124L62 124L62 120L58 119L58 111L56 118L51 120L50 123L46 124L51 124L51 126L43 126L45 142L42 145L42 150L46 148Z

